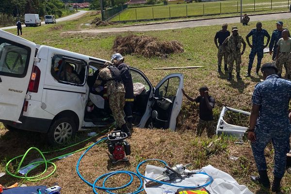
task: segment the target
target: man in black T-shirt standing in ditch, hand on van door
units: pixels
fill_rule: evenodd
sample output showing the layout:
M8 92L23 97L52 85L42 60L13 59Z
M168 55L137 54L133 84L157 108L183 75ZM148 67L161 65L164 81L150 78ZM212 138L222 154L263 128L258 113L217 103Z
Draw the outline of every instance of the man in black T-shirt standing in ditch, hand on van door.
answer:
M215 128L213 123L213 113L212 109L214 108L215 100L213 97L209 96L208 88L203 86L199 89L200 96L195 99L189 97L184 89L182 89L184 96L192 102L199 103L199 122L197 125L197 136L201 136L203 130L206 128L207 136L212 137L215 134Z

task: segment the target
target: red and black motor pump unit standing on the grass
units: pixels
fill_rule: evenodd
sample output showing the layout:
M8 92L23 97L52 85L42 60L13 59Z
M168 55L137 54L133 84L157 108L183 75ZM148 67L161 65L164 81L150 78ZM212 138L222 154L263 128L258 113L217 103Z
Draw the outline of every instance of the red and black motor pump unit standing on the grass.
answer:
M117 163L119 161L129 161L126 157L130 155L130 145L125 139L128 137L125 132L120 130L113 131L107 135L108 137L108 151L110 152L109 158L112 163Z

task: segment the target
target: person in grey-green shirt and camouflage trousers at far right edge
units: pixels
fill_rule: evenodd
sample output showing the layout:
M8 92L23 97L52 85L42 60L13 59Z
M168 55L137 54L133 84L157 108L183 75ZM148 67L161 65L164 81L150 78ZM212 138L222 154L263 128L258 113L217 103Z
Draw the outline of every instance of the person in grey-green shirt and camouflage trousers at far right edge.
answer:
M283 65L287 68L287 78L291 79L291 38L288 37L289 31L283 30L282 38L277 42L276 65L278 68L278 75L281 77Z

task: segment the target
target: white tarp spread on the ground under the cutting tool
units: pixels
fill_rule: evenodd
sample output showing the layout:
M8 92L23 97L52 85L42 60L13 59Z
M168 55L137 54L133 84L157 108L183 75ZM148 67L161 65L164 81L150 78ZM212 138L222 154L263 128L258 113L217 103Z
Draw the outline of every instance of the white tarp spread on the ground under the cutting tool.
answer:
M146 174L145 176L148 178L155 178L159 176L165 168L152 166L152 165L146 165ZM227 173L218 170L214 168L211 165L205 166L200 170L195 171L188 171L185 170L185 172L204 172L207 173L209 176L213 178L213 182L205 187L210 194L253 194L246 186L239 185L239 183L232 178ZM176 180L172 181L172 184L179 185L179 186L197 186L197 185L203 185L206 182L209 181L209 177L203 174L196 174L192 175L189 178L185 178L184 180L181 180L177 178ZM145 180L146 182L148 180ZM145 182L145 183L146 183ZM144 183L144 188L146 191L146 194L163 194L166 192L167 194L170 194L169 192L177 192L179 189L178 187L172 187L168 185L159 185L156 187L149 187L146 188Z

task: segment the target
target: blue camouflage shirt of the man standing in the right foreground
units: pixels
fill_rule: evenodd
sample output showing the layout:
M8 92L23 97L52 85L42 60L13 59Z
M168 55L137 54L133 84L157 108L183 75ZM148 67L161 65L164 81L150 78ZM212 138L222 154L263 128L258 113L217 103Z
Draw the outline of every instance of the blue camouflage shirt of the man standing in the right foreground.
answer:
M278 133L291 130L288 106L291 99L291 81L270 75L255 86L253 104L259 105L256 129Z

